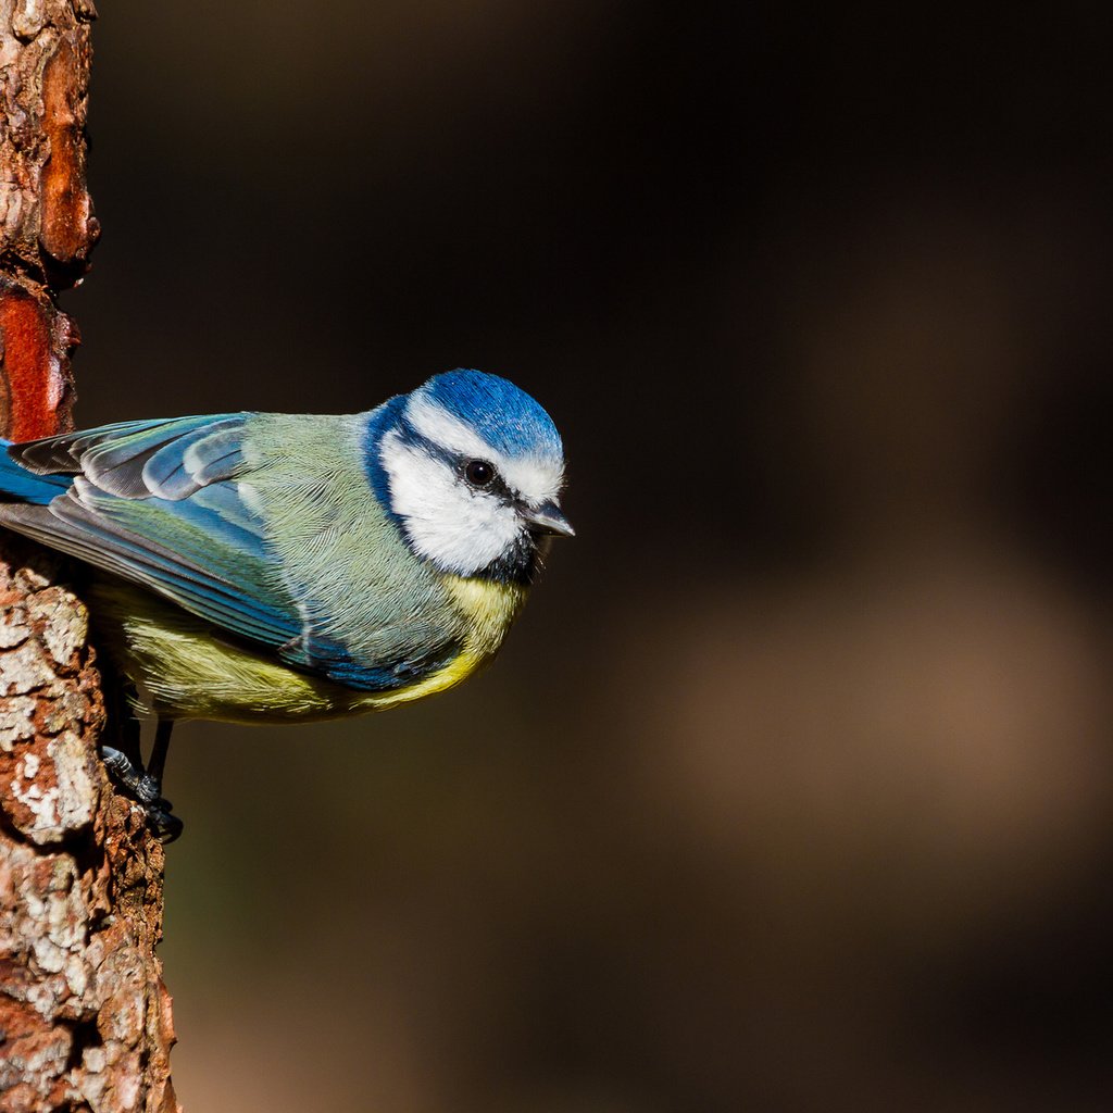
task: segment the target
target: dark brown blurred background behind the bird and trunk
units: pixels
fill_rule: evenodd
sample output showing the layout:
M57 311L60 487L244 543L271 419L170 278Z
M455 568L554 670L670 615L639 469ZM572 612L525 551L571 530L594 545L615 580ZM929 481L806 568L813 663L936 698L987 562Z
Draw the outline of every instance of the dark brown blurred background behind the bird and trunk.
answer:
M1110 1107L1113 16L1025 11L102 6L78 423L482 367L579 530L463 689L180 729L187 1111Z

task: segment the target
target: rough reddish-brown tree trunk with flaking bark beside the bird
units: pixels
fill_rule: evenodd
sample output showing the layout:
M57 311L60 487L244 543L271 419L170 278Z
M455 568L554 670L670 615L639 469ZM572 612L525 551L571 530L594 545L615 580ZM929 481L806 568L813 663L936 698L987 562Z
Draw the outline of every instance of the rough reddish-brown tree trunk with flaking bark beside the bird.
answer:
M90 0L0 0L0 434L70 429L56 305L98 235ZM173 1113L162 848L97 756L105 703L66 562L0 532L0 1113Z

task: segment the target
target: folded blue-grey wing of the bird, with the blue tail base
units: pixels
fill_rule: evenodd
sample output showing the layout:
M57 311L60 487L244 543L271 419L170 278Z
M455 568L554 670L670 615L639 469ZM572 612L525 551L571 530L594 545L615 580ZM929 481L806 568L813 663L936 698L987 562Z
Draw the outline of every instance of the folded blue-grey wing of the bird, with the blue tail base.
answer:
M237 479L252 414L125 422L0 451L0 521L139 583L287 663L347 687L397 688L453 646L374 664L313 629Z

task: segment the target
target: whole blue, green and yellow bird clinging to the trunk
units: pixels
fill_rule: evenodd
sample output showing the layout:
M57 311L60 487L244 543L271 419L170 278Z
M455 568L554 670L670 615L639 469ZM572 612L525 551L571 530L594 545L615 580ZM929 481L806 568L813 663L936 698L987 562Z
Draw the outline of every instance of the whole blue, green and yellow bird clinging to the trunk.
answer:
M147 769L104 752L170 837L175 722L315 721L460 683L498 652L549 540L573 535L563 487L549 414L463 368L357 414L0 441L0 525L91 569L98 642L147 693Z

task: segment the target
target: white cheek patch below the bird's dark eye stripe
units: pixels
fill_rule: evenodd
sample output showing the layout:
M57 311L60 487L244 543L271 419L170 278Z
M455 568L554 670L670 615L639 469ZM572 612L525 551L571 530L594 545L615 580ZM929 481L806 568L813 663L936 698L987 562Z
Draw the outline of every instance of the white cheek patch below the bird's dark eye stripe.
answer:
M407 445L396 433L383 439L382 459L391 509L414 549L445 571L479 572L518 536L514 511L492 495L469 490L443 460Z

